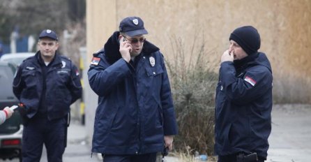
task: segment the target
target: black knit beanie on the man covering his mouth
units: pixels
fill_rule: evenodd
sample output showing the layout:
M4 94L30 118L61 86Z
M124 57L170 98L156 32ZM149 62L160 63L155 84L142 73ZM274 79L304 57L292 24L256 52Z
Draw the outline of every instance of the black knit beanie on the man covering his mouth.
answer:
M239 27L230 34L229 40L234 40L248 54L255 54L260 48L260 36L252 26Z

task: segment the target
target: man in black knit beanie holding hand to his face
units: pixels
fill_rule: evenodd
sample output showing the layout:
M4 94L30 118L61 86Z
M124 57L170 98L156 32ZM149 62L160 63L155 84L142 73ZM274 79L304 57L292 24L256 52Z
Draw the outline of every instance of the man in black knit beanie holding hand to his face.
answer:
M272 71L251 26L235 29L222 54L215 106L219 162L264 161L271 133Z

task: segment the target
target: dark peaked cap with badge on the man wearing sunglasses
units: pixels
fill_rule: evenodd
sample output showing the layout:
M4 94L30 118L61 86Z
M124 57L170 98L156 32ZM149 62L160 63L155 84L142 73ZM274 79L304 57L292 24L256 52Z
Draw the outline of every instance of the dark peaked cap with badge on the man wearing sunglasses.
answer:
M130 37L148 34L140 17L126 17L120 22L119 31Z

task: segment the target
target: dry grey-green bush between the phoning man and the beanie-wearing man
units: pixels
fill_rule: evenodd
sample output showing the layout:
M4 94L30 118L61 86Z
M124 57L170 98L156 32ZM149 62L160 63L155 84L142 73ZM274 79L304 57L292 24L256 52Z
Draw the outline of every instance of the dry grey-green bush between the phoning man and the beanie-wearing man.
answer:
M190 47L181 39L172 40L174 59L167 62L172 86L179 135L174 139L178 152L213 154L215 87L218 75L213 71L216 61L208 60L208 52L202 44ZM196 50L197 49L197 50ZM189 59L186 59L187 55ZM207 58L208 57L208 58Z

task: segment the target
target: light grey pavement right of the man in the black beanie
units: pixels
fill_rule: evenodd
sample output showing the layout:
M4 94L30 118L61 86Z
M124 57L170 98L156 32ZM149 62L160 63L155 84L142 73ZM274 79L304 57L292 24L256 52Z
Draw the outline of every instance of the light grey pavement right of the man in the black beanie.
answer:
M311 159L311 105L275 105L267 161L307 162Z

